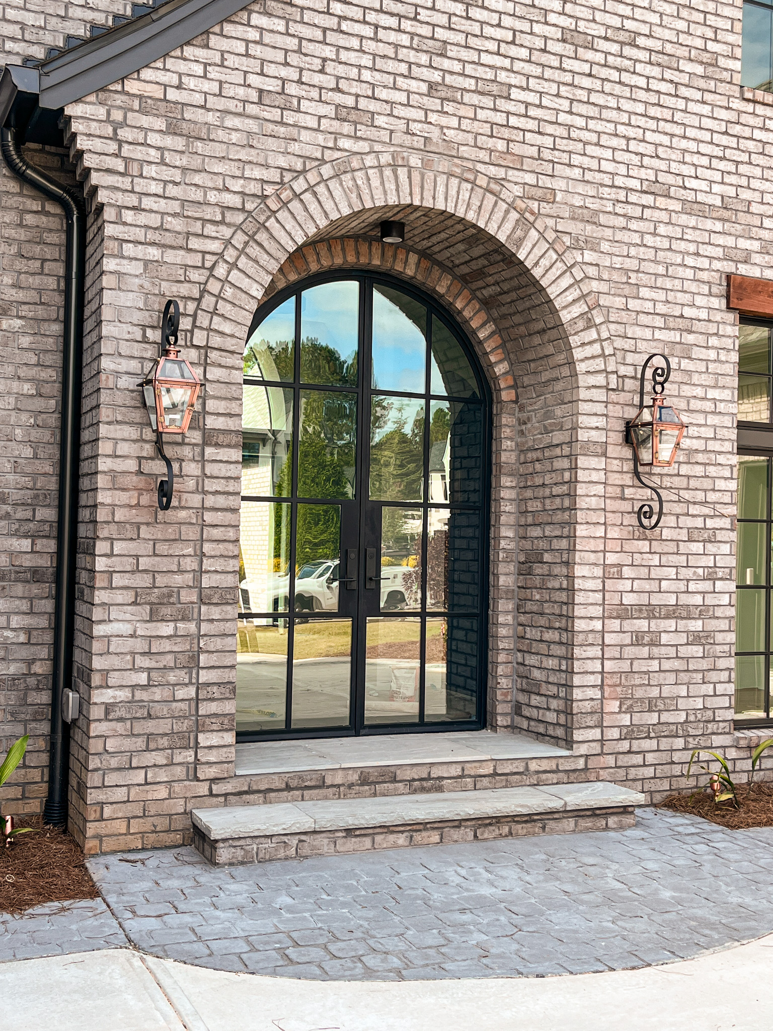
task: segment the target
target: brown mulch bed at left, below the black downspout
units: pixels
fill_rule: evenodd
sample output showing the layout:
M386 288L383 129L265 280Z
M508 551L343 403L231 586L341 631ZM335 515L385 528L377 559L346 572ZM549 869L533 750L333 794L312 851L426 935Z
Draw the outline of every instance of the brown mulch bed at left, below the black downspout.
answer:
M20 819L15 827L34 827L0 847L0 912L66 899L96 899L99 892L85 857L69 834L43 827L41 817Z

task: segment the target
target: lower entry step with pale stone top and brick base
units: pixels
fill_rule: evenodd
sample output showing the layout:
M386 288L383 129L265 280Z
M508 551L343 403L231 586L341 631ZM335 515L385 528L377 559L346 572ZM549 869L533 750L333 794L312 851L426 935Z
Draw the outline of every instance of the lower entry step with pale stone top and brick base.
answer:
M194 809L194 842L215 865L495 837L620 829L644 796L593 780L338 801Z

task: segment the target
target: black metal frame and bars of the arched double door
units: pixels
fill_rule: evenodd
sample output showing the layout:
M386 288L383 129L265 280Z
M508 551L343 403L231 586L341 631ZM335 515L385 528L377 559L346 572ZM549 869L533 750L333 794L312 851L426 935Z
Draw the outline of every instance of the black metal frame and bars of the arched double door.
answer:
M337 613L330 613L331 619L337 617L352 614L352 655L351 655L351 680L350 680L350 703L349 703L349 726L348 727L332 727L332 728L304 728L293 730L289 727L282 730L262 730L262 731L237 731L236 739L239 741L268 741L268 740L293 740L293 739L308 739L308 738L329 738L329 737L355 737L355 736L367 736L367 735L382 735L382 734L427 734L427 733L448 733L449 731L459 730L479 730L485 726L486 720L486 676L488 676L488 664L486 657L489 651L489 570L490 570L490 513L491 513L491 479L492 479L492 395L489 383L483 373L483 369L478 359L475 351L470 343L467 335L459 326L457 320L453 315L443 308L438 302L429 294L425 293L423 290L413 287L411 284L406 282L404 279L400 279L397 276L389 275L385 273L377 271L363 271L358 268L351 269L337 269L336 271L327 271L316 273L305 277L297 282L278 291L274 294L269 301L265 304L259 306L256 310L253 321L247 332L247 340L251 337L255 330L263 322L263 320L269 315L276 307L284 303L290 297L297 295L299 298L296 304L296 347L295 347L295 379L293 383L285 383L281 386L284 389L294 390L296 398L299 397L298 390L300 389L300 294L304 290L308 290L311 287L316 287L325 282L336 282L342 280L357 280L360 285L360 309L359 309L359 338L358 338L358 348L359 348L359 361L358 361L358 383L356 392L358 395L358 414L357 414L357 458L356 458L356 487L355 487L355 499L351 501L343 501L341 503L341 558L340 558L340 569L343 570L344 560L346 556L346 551L351 548L352 542L344 539L344 524L351 525L350 516L346 518L344 512L345 508L351 510L352 506L359 508L359 522L360 522L360 537L359 540L354 541L356 550L358 552L358 571L357 571L357 597L354 600L356 603L352 605L345 605L345 610L341 606L342 596L344 592L348 595L348 599L351 596L348 594L346 588L342 585L339 587L339 611ZM368 498L367 483L365 479L366 472L369 469L370 462L370 373L371 373L371 334L372 334L372 287L374 284L383 284L388 287L393 287L400 290L402 293L407 294L419 303L424 304L428 308L430 317L432 314L436 315L453 334L456 339L462 346L463 352L470 361L470 365L475 374L475 378L480 391L480 401L483 410L483 492L482 492L482 504L480 506L480 545L482 551L481 556L481 600L479 609L479 626L480 633L478 639L478 671L479 680L477 686L477 712L478 718L476 720L460 721L460 722L438 722L438 723L418 723L418 724L379 724L367 726L364 723L364 706L365 706L365 626L367 616L374 616L375 612L370 611L369 605L370 595L366 590L366 562L365 562L365 552L369 542L373 539L373 527L372 520L373 513L377 509L380 512L381 502L371 502ZM245 341L246 343L246 341ZM428 348L429 350L429 348ZM246 377L249 379L249 377ZM257 383L257 380L256 380ZM332 392L342 392L342 393L352 393L355 388L351 387L333 387L325 386L323 388L326 391ZM398 395L398 392L393 391L377 391L373 393L379 394L390 394L393 393ZM425 397L430 397L429 387L425 391ZM299 432L299 411L298 404L294 404L293 411L293 437L294 440L298 440ZM429 411L426 412L426 420L429 423ZM429 431L425 433L425 469L428 468L427 461L428 456L426 454L429 447ZM297 462L294 463L297 465ZM295 480L297 476L297 470L294 473L294 496L295 496ZM425 486L425 494L429 491L429 483ZM290 502L291 498L276 498L276 501L287 501ZM332 499L324 499L327 503L330 503ZM417 507L427 506L429 499L425 502L416 503ZM397 504L401 504L397 502ZM409 502L402 503L404 506L409 505ZM295 511L296 507L293 506L293 520L292 520L292 535L293 540L295 539ZM370 525L369 525L370 524ZM426 563L425 563L426 564ZM380 563L378 564L380 569ZM343 572L339 573L343 576ZM423 581L426 579L426 571L423 570ZM376 587L376 597L380 598L380 590ZM347 600L348 600L347 599ZM258 613L256 613L258 614ZM413 614L413 613L410 613ZM422 613L415 613L422 616ZM438 613L442 617L444 613ZM451 613L445 613L450 617ZM290 723L292 709L292 648L293 643L293 625L294 625L294 613L292 611L289 613L289 661L288 661L288 689L287 689L287 708L285 708L285 723ZM314 618L325 619L325 613L315 613ZM238 619L249 619L249 613L239 612ZM426 618L426 617L423 617ZM419 666L424 669L425 660L425 635L422 635L422 656L419 660ZM422 710L419 711L419 719L424 719L424 690L422 691Z

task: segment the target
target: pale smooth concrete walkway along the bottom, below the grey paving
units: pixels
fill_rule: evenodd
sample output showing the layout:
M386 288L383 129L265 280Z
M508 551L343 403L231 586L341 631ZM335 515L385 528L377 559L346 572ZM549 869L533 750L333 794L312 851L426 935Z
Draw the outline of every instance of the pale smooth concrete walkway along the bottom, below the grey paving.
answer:
M2 967L5 1031L759 1031L773 935L641 970L326 982L207 970L130 950Z

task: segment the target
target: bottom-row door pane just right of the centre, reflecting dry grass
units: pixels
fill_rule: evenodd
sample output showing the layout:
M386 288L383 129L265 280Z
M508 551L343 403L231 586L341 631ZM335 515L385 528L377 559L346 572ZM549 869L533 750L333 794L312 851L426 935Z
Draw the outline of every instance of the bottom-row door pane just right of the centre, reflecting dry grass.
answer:
M422 621L369 619L365 723L417 723Z

